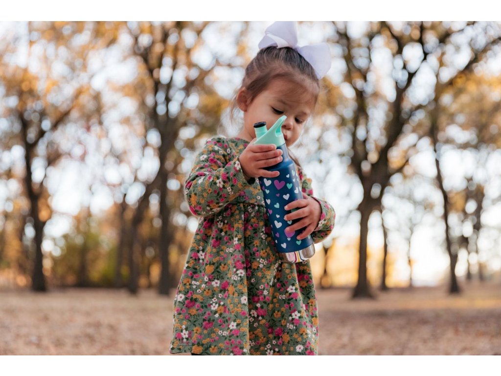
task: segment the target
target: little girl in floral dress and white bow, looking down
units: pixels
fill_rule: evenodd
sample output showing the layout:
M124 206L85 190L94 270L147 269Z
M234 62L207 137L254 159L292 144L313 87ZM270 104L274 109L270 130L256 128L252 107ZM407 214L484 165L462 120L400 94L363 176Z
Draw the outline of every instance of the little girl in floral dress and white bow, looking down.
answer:
M297 47L296 26L277 22L245 69L234 106L243 111L237 137L207 140L185 182L191 213L201 217L174 298L171 353L317 354L318 312L310 262L279 260L258 176L275 177L281 150L255 145L254 123L282 132L293 145L311 115L320 78L330 68L326 44ZM296 163L297 164L297 163ZM334 227L334 209L313 197L298 165L303 199L288 205L301 219L287 229L315 243Z

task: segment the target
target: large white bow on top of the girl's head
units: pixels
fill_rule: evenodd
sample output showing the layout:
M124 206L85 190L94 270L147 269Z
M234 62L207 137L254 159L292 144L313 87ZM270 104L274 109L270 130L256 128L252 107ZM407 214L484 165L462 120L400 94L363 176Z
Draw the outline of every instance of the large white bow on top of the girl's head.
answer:
M277 21L265 30L265 36L259 42L259 48L270 46L292 47L303 56L315 69L320 80L331 68L331 53L327 43L318 43L308 46L298 46L298 32L296 23L292 21Z

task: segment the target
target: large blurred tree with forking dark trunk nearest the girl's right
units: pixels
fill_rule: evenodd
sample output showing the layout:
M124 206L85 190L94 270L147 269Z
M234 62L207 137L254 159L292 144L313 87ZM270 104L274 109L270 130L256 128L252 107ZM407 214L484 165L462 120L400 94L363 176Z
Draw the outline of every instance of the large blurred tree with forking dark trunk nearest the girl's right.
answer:
M401 171L415 154L416 142L428 134L434 134L436 122L433 115L436 112L433 110L438 108L437 102L443 89L460 72L472 69L474 63L492 45L497 44L499 32L495 24L381 22L369 23L366 35L354 38L349 26L334 23L333 42L343 48L346 65L343 83L345 93L353 93L353 100L340 98L340 103L346 109L341 111L340 116L352 142L351 168L363 187L363 198L358 206L361 215L359 276L353 297L371 297L366 267L367 224L370 214L381 204L390 178ZM468 33L477 37L471 40L469 62L456 68L453 61L450 63L451 58L448 56L448 75L444 76L441 65L444 53L454 51L455 38L469 35ZM482 43L481 36L485 35L488 38ZM381 61L384 59L381 54L388 52L391 53L393 67L391 92L384 91L383 85L388 81L383 82L380 68L373 61L376 56ZM427 96L420 96L419 91L416 91L421 81L419 78L429 74L430 70L437 79L435 90ZM452 271L454 259L449 242L447 244ZM454 277L451 278L453 281ZM455 288L452 282L451 291Z

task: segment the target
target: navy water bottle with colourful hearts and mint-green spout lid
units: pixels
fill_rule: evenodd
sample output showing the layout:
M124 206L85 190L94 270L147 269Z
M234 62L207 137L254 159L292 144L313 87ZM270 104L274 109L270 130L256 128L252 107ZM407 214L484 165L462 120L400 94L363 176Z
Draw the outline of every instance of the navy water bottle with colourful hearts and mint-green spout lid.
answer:
M295 212L297 209L288 211L284 207L303 198L296 165L289 157L284 134L282 133L282 124L284 124L286 118L286 116L282 116L268 130L264 121L254 124L257 138L254 144L275 144L277 149L282 150L282 161L265 168L268 171L279 171L280 175L270 178L260 176L259 184L265 197L266 213L273 230L275 249L282 261L294 264L311 258L315 254L315 246L311 235L308 235L305 239L297 239L304 228L292 233L285 232L287 227L299 222L301 219L286 221L284 216Z

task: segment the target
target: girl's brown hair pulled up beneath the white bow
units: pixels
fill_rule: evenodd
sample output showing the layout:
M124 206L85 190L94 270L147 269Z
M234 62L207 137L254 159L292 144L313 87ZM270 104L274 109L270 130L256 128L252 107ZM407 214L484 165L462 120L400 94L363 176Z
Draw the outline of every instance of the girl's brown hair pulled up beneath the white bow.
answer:
M275 79L286 79L298 85L297 94L302 98L317 103L320 92L320 81L315 70L306 59L291 47L277 48L270 46L258 52L245 68L241 88L247 89L247 99L252 102ZM229 108L229 120L233 122L239 108L234 95ZM297 159L289 152L294 162L300 166Z

